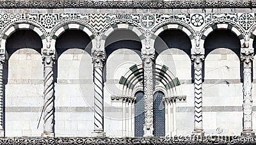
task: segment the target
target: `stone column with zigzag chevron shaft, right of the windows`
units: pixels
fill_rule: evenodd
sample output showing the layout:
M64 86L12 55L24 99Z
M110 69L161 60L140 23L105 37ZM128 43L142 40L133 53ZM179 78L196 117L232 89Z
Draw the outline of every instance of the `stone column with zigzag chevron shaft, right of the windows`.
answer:
M204 136L203 130L203 116L202 116L202 61L204 61L204 56L194 55L191 57L195 70L195 111L194 111L194 131L193 135ZM174 107L173 107L174 109ZM174 112L173 112L174 113Z

